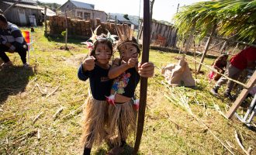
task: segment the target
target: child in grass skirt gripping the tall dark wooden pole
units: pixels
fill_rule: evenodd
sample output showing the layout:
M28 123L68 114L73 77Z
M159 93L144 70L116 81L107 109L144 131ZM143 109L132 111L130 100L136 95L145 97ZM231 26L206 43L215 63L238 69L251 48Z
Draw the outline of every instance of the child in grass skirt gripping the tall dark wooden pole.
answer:
M125 26L122 27L126 29ZM109 154L123 152L123 146L130 133L136 130L137 109L139 100L134 96L137 84L142 77L152 77L154 64L138 63L140 48L137 40L131 35L129 29L118 27L119 43L116 47L120 58L116 58L109 71L109 78L114 79L111 95L109 96L108 131L112 143L116 144ZM126 32L122 34L121 32Z

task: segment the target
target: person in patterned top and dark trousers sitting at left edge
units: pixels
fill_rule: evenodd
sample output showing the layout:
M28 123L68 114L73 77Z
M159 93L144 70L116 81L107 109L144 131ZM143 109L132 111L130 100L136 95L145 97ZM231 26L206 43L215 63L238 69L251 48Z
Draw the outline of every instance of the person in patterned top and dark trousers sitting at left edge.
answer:
M12 65L12 61L5 52L19 53L23 66L29 67L29 64L26 63L27 50L28 46L19 28L0 14L0 57L4 61L2 67Z

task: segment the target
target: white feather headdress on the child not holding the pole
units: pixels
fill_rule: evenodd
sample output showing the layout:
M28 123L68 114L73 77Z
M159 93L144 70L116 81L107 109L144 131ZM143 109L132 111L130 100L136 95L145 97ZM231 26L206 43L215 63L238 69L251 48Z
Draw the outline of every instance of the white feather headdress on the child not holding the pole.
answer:
M92 31L92 36L91 36L90 39L88 39L88 40L85 41L85 42L82 42L83 44L86 44L86 45L87 45L87 47L88 47L89 50L92 50L92 49L94 48L95 42L96 42L97 40L109 40L112 44L114 44L114 43L116 42L116 37L117 37L117 36L110 34L110 33L109 33L109 30L107 30L108 33L107 33L106 36L102 36L102 35L98 36L98 35L97 35L97 31L98 31L99 27L100 27L100 25L97 26L94 31Z

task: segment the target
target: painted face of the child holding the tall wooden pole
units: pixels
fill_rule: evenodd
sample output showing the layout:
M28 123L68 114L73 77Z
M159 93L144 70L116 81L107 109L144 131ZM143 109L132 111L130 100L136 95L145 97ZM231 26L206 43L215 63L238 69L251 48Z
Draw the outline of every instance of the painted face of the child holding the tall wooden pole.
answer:
M137 47L134 47L131 43L126 43L122 47L119 48L120 57L122 60L129 60L130 58L137 58L139 53L137 51Z

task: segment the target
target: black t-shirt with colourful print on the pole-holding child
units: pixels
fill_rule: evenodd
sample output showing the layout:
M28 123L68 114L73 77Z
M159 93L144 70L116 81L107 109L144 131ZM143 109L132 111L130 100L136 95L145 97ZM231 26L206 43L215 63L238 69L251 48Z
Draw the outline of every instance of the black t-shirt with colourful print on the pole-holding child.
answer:
M123 74L116 77L112 84L112 90L116 91L119 95L126 96L128 98L134 97L134 91L137 84L140 81L140 74L136 71L136 68L130 68Z

